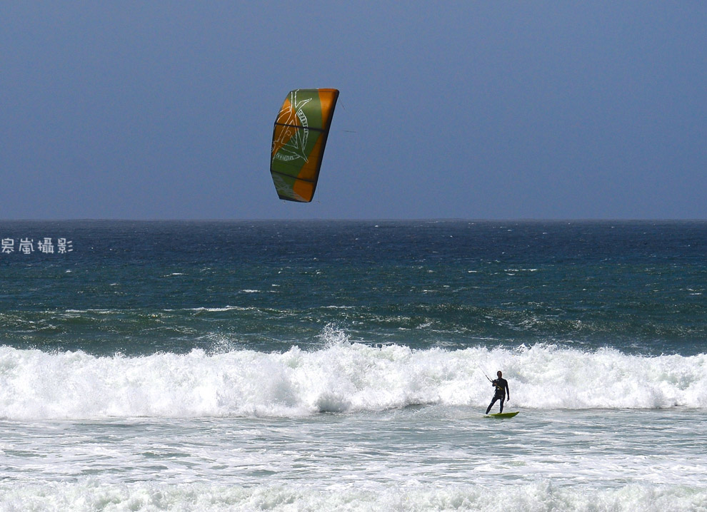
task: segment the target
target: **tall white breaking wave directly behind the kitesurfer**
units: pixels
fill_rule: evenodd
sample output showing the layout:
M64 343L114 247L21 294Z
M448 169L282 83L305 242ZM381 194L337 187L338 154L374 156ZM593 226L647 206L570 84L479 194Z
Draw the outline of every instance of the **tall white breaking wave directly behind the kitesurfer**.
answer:
M334 339L336 342L327 344ZM322 348L94 357L0 347L0 418L304 416L418 404L488 404L483 372L502 369L514 407L707 407L707 356L638 357L538 345L413 350L349 343Z

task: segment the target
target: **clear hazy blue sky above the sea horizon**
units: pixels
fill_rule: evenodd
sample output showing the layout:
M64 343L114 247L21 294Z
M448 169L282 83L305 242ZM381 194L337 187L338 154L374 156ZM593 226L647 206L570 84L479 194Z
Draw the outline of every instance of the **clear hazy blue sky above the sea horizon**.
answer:
M0 219L707 219L707 3L4 1ZM338 88L312 203L289 91Z

